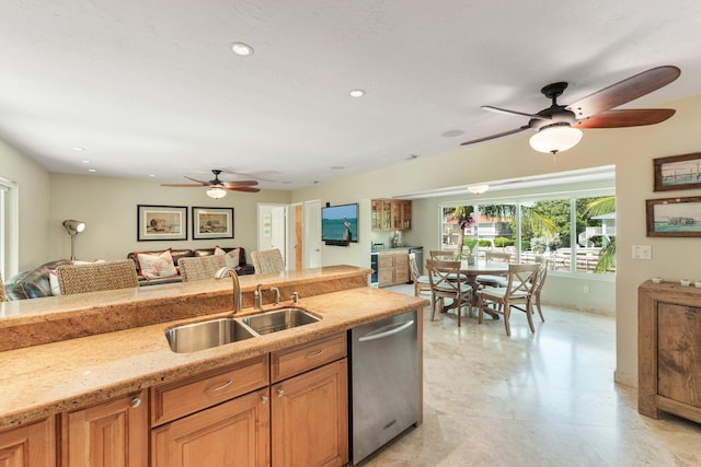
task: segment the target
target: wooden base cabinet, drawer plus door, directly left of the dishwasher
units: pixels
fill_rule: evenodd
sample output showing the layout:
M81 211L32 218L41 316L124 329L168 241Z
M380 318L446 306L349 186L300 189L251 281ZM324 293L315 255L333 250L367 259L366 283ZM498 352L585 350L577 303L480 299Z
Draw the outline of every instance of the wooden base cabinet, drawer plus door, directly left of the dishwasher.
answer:
M273 466L332 467L347 464L346 353L345 334L283 353L272 353L273 373L277 366L278 377L300 373L271 387Z

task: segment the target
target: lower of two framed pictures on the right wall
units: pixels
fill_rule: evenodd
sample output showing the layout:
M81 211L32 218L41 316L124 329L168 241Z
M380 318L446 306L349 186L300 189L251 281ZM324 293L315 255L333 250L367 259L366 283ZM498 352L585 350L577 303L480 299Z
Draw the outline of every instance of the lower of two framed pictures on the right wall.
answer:
M647 236L701 236L701 197L645 201Z

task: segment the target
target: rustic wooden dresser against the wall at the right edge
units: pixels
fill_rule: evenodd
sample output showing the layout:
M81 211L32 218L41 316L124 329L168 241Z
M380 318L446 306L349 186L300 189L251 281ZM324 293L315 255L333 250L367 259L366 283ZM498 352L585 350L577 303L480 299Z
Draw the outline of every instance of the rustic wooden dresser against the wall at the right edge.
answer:
M701 423L701 289L644 282L637 289L637 411Z

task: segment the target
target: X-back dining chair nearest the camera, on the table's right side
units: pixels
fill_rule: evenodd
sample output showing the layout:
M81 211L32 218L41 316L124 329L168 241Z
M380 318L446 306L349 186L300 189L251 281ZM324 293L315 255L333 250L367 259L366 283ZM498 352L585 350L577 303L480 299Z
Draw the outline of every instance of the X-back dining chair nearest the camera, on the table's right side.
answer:
M517 310L526 312L528 327L531 332L536 332L532 318L532 294L539 269L539 264L509 264L507 284L505 288L486 287L478 290L478 323L482 324L485 312L490 314L501 314L504 316L506 335L510 336L509 316L512 314L512 307L516 307ZM524 305L524 308L517 305Z

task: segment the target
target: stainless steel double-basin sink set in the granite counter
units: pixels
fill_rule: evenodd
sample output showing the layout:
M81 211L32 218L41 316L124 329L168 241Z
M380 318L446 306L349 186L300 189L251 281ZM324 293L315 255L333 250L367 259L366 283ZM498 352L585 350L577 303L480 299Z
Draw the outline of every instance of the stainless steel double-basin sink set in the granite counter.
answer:
M301 308L280 308L243 317L228 316L168 329L165 339L173 352L210 349L265 334L277 332L320 320Z

